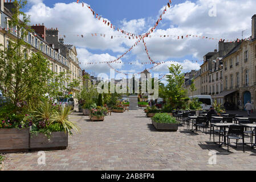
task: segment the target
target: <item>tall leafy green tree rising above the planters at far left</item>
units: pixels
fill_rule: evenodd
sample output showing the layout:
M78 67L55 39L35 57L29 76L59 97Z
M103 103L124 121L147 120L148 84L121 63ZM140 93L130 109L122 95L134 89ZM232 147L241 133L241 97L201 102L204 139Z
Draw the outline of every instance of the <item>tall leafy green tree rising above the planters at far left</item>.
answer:
M29 105L38 101L46 92L47 80L51 76L48 61L39 52L28 55L30 45L24 41L28 31L29 17L20 11L26 1L14 1L13 16L9 20L10 30L17 31L17 38L9 40L8 47L0 49L0 89L15 106L20 102ZM23 17L21 21L19 16Z

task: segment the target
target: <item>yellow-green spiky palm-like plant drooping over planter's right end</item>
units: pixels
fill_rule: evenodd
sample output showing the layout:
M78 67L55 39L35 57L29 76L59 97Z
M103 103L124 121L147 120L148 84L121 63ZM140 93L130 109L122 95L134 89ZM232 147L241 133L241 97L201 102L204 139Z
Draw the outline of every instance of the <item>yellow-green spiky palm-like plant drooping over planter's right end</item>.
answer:
M50 124L53 122L60 123L63 126L65 133L68 134L72 134L71 129L79 132L79 128L76 126L76 123L68 121L68 115L70 115L71 112L71 106L60 107L59 112L56 110L54 111Z

